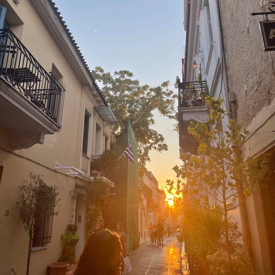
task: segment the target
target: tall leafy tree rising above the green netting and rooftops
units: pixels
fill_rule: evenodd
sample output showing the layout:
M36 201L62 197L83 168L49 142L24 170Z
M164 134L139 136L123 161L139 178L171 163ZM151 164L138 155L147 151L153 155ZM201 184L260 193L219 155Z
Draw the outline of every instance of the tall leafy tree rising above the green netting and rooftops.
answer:
M127 70L115 71L112 75L101 67L96 67L92 74L102 83L101 91L118 120L113 127L115 133L119 134L127 118L130 119L138 142L139 168L145 171L151 150L162 152L168 149L163 136L152 129L155 124L153 112L157 110L161 115L173 119L177 94L169 89L169 81L157 87L140 85L137 79L133 79L134 74Z

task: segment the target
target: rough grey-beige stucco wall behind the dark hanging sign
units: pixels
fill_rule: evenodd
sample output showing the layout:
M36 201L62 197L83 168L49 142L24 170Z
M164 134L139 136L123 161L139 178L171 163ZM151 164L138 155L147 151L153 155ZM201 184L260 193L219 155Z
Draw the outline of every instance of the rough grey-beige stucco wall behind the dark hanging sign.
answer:
M259 21L266 0L219 1L229 90L237 99L237 122L245 127L275 97L273 52L264 52ZM269 16L270 20L274 16Z

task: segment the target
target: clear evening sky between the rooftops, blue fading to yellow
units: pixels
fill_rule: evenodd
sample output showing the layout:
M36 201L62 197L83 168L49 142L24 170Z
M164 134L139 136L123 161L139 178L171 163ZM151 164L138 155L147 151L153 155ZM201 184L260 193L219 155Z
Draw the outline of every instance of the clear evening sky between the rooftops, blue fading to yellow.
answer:
M55 3L91 69L129 70L141 85L157 86L170 80L174 89L185 45L182 0ZM163 134L169 150L151 152L147 168L161 188L167 178L175 180L172 167L181 161L178 134L172 131L175 122L157 113L155 118L153 128Z

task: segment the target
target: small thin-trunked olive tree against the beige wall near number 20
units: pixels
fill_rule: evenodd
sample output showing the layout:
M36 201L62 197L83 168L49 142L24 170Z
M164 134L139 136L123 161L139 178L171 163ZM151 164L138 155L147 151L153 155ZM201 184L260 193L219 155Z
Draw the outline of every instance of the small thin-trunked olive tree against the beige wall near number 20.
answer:
M29 274L31 242L35 229L45 220L58 215L58 211L54 211L54 208L60 202L60 199L57 199L58 186L46 185L41 175L30 173L29 176L30 180L23 180L22 185L17 188L19 196L17 208L24 224L24 230L29 235L26 275Z

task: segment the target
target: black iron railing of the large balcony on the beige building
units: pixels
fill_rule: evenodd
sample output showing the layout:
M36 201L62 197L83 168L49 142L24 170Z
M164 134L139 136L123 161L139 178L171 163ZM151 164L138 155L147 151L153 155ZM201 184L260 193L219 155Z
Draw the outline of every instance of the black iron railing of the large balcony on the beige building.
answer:
M10 29L0 30L0 75L61 127L65 86Z

